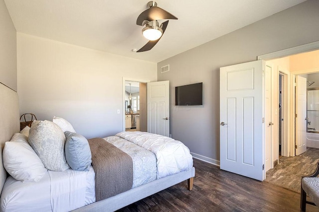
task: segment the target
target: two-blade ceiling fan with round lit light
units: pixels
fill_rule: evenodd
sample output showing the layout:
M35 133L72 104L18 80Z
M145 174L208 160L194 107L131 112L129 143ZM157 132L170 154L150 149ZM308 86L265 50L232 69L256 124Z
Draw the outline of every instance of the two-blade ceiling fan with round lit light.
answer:
M137 52L145 52L151 50L160 40L161 36L164 34L168 20L163 23L159 23L158 20L162 19L178 19L174 15L170 14L166 10L157 6L156 1L149 1L147 10L143 11L136 24L140 26L146 25L142 29L142 33L146 39L150 40L145 46L139 49Z

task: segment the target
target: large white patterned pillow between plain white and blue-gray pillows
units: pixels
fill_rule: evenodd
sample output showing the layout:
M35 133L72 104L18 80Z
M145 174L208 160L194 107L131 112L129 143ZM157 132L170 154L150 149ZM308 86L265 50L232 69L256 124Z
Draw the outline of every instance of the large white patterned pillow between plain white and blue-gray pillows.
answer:
M51 171L65 171L70 168L64 154L65 136L53 122L33 121L29 143L45 168Z

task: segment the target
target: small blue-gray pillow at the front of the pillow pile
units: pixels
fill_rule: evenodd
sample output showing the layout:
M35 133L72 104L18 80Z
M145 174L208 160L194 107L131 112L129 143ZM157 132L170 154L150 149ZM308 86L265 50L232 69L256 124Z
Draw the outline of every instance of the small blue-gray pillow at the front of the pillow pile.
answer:
M88 140L83 136L66 131L64 133L65 157L69 166L75 171L88 171L92 163L91 149Z

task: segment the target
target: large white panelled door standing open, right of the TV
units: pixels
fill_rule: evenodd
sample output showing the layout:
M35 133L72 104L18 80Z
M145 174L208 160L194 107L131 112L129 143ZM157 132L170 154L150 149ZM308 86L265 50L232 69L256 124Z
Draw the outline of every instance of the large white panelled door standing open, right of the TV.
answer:
M265 179L263 63L220 68L220 168Z

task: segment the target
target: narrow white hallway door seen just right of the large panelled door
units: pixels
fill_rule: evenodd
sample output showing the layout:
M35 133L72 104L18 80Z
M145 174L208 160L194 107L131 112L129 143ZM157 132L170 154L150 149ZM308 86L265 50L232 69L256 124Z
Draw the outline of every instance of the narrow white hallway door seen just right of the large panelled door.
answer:
M265 171L272 168L272 144L274 124L272 118L272 72L273 67L266 62L265 66Z

